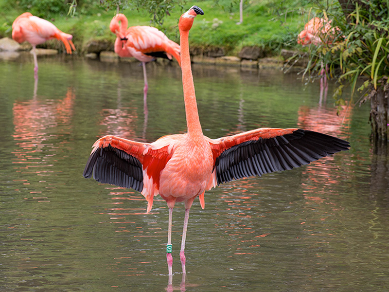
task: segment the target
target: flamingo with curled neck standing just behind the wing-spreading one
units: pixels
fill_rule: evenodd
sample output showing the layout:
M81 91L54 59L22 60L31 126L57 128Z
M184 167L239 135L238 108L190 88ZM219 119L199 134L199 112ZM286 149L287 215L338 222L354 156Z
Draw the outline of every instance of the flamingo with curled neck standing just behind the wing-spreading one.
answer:
M142 62L144 100L147 96L148 83L146 63L156 57L172 59L174 56L180 64L179 45L165 36L159 29L152 26L131 26L124 14L115 15L109 29L116 35L115 53L120 57L135 57Z

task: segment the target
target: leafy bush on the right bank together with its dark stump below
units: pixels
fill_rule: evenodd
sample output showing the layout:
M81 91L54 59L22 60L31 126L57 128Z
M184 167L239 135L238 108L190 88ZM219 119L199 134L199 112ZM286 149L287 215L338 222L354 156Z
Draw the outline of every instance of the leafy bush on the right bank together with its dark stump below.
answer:
M310 46L305 72L315 76L327 64L327 75L340 84L334 94L336 104L345 103L345 84L351 86L351 101L359 91L360 104L370 100L374 141L389 140L389 0L338 0L319 8L318 16L332 19L342 37Z

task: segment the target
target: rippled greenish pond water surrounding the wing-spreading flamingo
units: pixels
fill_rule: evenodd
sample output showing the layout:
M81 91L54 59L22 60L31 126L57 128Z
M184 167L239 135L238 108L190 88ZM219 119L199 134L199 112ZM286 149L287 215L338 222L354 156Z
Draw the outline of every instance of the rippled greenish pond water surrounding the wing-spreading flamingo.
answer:
M107 134L152 142L186 131L181 71L76 56L0 61L1 291L165 291L168 209L82 176ZM349 151L225 183L191 209L186 285L173 212L173 289L388 291L388 157L370 142L368 106L336 115L295 73L194 64L200 120L218 138L260 127L346 139Z

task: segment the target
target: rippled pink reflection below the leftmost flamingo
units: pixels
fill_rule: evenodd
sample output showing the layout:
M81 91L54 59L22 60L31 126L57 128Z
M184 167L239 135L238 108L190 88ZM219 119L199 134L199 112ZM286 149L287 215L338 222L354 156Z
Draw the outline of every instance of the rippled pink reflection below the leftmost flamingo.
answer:
M57 154L60 145L54 143L53 139L70 132L75 94L72 88L68 88L66 96L61 100L39 100L36 89L37 80L33 99L16 101L13 106L13 137L17 145L13 152L16 156L13 164L17 165L16 169L29 169L38 175L50 175L51 171L44 167L53 166L53 156ZM51 152L42 155L43 151Z

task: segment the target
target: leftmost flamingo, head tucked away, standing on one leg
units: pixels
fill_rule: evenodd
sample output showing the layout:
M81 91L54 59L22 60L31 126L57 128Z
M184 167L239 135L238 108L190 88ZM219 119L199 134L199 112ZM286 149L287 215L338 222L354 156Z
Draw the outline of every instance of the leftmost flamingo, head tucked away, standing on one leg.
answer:
M71 54L71 49L75 51L75 47L71 41L73 38L72 35L61 32L50 21L34 16L30 12L25 12L14 20L12 23L12 38L18 43L26 40L33 46L35 78L38 73L36 45L43 44L48 39L56 38L64 43L68 54Z

